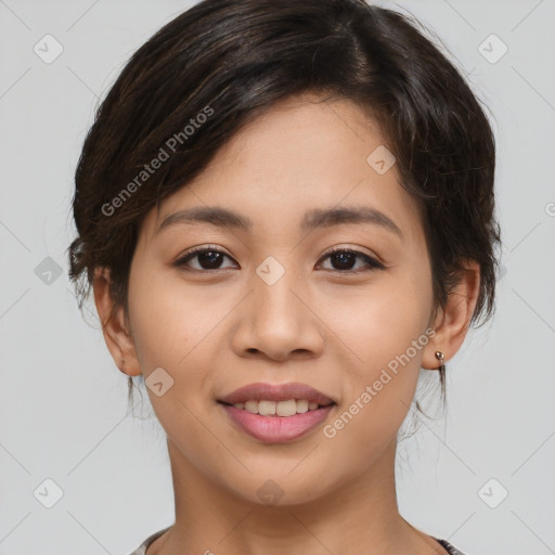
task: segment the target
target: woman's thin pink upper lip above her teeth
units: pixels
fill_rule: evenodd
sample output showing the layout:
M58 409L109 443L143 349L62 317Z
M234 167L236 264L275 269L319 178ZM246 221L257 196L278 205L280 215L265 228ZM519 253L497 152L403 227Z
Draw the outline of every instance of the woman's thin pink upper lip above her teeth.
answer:
M287 401L289 399L307 399L308 401L315 402L320 405L332 404L335 401L322 393L318 389L310 387L306 384L291 382L288 384L249 384L244 387L235 389L235 391L219 399L219 401L228 404L241 403L255 399L257 401Z

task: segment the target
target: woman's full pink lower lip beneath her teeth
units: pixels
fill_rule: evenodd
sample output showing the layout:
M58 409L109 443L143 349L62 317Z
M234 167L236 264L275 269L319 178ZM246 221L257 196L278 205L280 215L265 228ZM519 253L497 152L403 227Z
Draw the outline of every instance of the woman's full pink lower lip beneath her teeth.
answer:
M293 416L261 416L245 409L220 404L243 431L266 443L284 443L308 434L325 421L335 406L335 404L328 404L315 411L307 411Z

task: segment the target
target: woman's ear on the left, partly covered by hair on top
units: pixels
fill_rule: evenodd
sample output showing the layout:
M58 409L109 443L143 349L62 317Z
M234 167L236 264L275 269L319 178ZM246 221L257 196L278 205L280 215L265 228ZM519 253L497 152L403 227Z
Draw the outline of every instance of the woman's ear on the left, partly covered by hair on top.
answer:
M102 323L102 333L116 366L129 376L139 376L141 366L133 337L126 322L124 307L116 307L111 295L108 268L96 268L92 283L94 304Z

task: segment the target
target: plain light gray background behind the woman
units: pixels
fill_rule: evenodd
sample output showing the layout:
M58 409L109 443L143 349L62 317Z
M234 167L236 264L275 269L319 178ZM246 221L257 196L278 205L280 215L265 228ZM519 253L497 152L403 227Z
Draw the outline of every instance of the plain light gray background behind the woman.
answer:
M127 414L126 377L94 313L81 320L65 249L98 99L191 3L0 0L0 554L125 555L173 521L163 430L146 395ZM448 365L446 417L401 443L401 514L467 555L555 553L555 2L382 4L435 29L491 108L506 272L493 321ZM51 63L34 51L47 55L47 34L63 47ZM508 48L495 63L492 34ZM63 492L51 508L47 479Z

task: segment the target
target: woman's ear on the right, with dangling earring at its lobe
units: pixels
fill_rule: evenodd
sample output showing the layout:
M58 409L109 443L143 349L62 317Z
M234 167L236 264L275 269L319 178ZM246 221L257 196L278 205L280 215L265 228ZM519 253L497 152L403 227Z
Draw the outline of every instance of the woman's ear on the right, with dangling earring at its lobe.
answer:
M436 335L424 349L422 367L439 369L440 362L435 356L436 351L443 353L443 363L459 351L470 326L479 288L480 266L476 260L467 260L457 285L450 292L446 306L438 309L431 323Z

